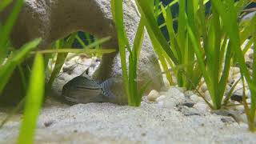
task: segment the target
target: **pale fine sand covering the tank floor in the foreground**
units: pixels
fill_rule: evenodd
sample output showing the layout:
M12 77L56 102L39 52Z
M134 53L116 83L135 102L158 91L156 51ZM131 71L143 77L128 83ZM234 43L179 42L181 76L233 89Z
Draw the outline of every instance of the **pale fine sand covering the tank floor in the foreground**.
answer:
M0 119L4 114L0 114ZM18 116L16 116L18 117ZM36 143L255 143L245 123L222 122L222 116L185 116L174 109L89 103L46 106L38 120ZM18 118L0 130L0 143L14 143ZM49 125L49 126L46 126Z

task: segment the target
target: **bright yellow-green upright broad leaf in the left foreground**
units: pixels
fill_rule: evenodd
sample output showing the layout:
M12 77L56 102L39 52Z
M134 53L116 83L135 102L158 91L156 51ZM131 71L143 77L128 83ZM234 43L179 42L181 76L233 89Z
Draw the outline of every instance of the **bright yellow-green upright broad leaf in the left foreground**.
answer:
M19 144L34 143L34 133L37 124L38 114L42 106L42 98L45 90L45 73L42 54L37 54L34 59L30 86L26 94L26 106L20 134Z

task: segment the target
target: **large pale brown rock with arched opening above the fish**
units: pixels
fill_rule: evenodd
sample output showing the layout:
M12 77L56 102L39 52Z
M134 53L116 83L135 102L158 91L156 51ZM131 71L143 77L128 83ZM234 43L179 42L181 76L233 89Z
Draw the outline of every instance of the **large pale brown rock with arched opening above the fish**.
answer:
M1 12L1 22L10 14L11 6L14 5L10 5L8 9ZM126 35L132 46L141 18L134 0L124 0L123 10ZM24 19L26 19L26 22L24 22ZM78 30L89 31L90 34L97 38L110 36L110 41L103 43L102 48L118 48L118 36L111 14L110 0L25 0L10 35L12 36L14 47L20 47L34 38L42 38L42 42L38 47L43 49L50 47L56 39L65 38L68 34ZM161 74L161 70L147 33L145 34L140 54L138 61L139 86L142 86L143 83L148 82L150 79L152 84L149 90L160 90L164 83L162 75L156 76L156 74ZM108 78L122 79L121 67L120 54L118 52L103 54L102 62L94 72L93 78L99 81L105 81ZM14 82L18 86L22 85L17 78L14 78ZM115 86L122 90L122 81L118 82L120 83ZM54 92L61 95L59 89L64 84L58 83L60 86L54 86ZM55 89L56 87L58 88ZM17 93L21 94L21 92ZM2 95L2 97L6 97L6 95ZM113 102L118 103L120 99L127 99L125 92L117 96Z

